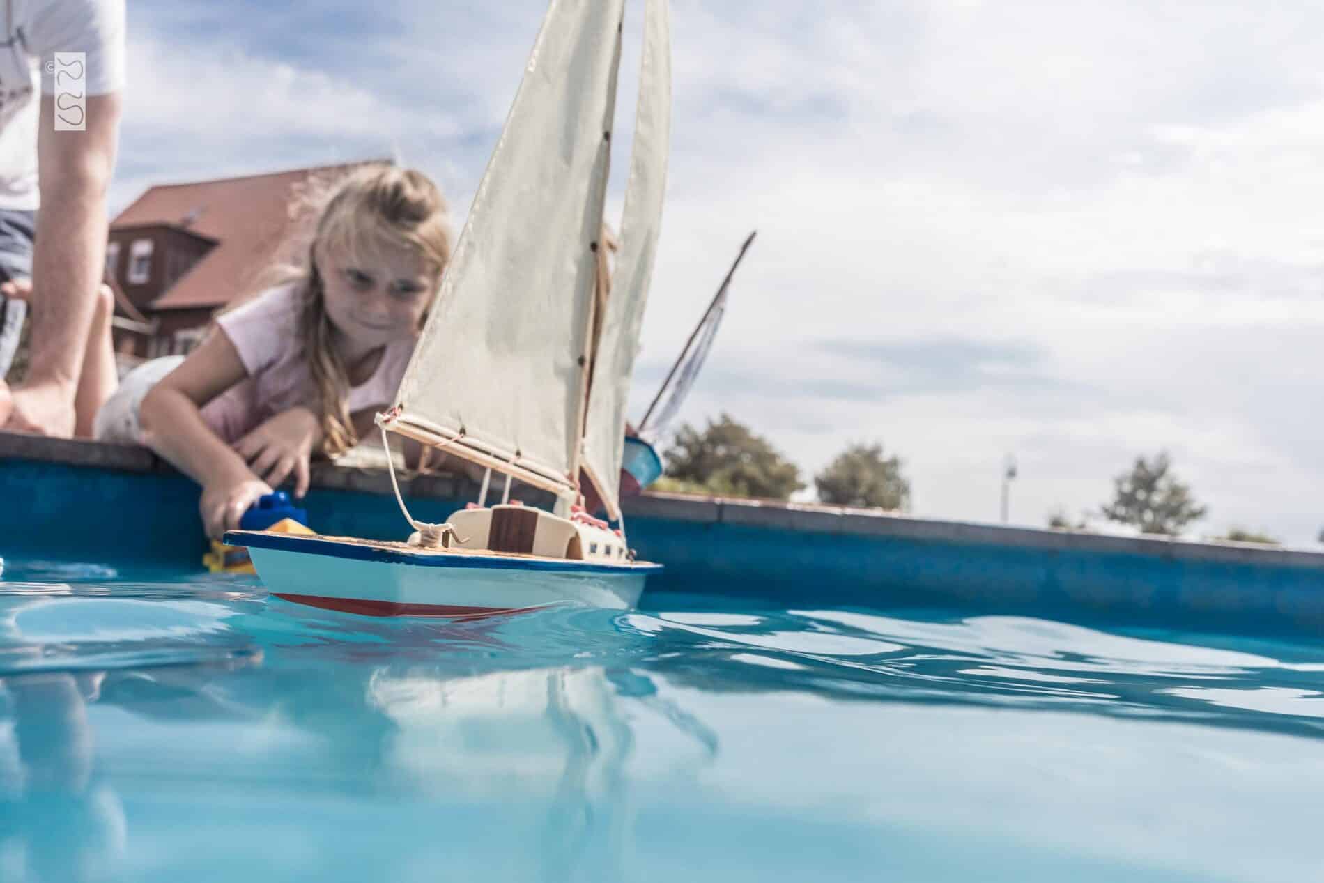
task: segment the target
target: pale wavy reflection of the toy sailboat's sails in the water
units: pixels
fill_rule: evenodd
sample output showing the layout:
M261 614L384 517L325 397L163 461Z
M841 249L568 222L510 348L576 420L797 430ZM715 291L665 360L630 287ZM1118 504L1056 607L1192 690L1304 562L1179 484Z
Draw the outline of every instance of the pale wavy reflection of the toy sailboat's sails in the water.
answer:
M458 678L383 669L368 696L396 727L383 753L391 776L462 802L518 804L528 827L516 823L511 839L539 841L545 879L626 875L636 744L626 703L665 704L647 678L602 667ZM686 725L711 756L715 737Z

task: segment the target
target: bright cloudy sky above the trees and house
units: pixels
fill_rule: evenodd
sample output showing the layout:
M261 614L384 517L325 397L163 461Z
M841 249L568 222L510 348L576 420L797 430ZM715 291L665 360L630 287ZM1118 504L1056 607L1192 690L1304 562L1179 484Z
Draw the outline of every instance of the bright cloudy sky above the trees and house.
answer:
M812 477L898 454L923 516L1096 512L1166 450L1209 515L1324 527L1324 8L673 0L636 416L749 230L682 418ZM545 0L135 0L111 208L393 156L462 220ZM637 85L628 0L617 128ZM633 28L632 28L633 25ZM629 139L618 138L616 167ZM609 217L621 207L613 177Z

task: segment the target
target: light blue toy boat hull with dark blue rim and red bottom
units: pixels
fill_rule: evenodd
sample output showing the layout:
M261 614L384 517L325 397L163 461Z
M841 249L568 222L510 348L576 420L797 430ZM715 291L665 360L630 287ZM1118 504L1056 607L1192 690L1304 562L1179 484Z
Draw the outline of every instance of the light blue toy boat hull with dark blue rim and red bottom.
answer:
M248 547L271 594L367 616L475 618L552 604L628 609L662 569L265 532L233 532L226 541Z

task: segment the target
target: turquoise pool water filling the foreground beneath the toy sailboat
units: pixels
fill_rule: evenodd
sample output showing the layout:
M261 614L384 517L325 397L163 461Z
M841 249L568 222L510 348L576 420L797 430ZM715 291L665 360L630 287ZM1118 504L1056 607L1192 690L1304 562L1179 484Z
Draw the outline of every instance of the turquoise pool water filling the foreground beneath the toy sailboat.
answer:
M11 561L0 880L1319 876L1317 643L645 608L369 620Z

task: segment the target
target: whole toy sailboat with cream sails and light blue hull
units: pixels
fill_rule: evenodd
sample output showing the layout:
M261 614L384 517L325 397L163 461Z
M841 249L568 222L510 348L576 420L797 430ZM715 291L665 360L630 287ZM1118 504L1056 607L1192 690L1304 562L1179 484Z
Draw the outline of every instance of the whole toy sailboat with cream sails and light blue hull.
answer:
M416 528L408 543L226 534L273 594L376 616L629 608L662 569L628 547L618 477L666 184L666 0L646 0L616 285L594 315L624 5L551 1L396 405L377 414L383 440L393 432L503 474L502 504L485 506L487 479L445 524L416 522L400 499ZM581 474L622 527L577 506ZM508 502L511 478L553 494L553 511Z

